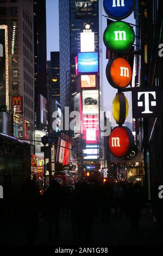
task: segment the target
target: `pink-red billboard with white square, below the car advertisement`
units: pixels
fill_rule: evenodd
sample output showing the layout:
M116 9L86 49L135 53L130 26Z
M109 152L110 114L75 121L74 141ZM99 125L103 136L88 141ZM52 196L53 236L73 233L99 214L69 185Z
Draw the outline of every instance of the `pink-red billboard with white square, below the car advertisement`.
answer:
M86 144L97 144L99 141L99 115L83 115L83 139Z

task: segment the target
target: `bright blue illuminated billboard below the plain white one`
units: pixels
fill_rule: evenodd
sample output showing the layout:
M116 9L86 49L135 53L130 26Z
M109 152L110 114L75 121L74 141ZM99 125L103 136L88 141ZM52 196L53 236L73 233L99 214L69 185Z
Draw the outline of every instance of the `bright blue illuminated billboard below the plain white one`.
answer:
M99 70L98 52L78 53L78 74L95 74Z

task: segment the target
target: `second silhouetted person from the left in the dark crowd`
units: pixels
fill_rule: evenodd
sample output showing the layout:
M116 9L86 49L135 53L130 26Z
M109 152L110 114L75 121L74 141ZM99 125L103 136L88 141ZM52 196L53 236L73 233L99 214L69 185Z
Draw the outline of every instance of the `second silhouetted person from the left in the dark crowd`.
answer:
M48 222L48 240L53 238L53 225L55 225L55 238L59 238L59 217L62 205L62 191L57 181L53 180L44 195L45 210Z

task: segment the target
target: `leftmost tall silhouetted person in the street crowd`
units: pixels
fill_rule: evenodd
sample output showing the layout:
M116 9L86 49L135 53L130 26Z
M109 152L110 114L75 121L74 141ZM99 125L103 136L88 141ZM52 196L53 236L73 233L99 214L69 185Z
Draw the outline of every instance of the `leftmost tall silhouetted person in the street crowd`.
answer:
M39 230L40 209L41 195L36 188L35 182L28 178L22 186L20 198L22 224L26 230L28 245L35 243L36 234Z

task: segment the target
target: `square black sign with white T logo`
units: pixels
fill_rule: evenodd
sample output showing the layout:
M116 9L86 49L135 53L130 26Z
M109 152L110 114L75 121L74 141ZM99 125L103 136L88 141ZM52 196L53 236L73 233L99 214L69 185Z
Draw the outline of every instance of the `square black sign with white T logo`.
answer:
M161 88L134 88L133 118L162 117L162 90Z

